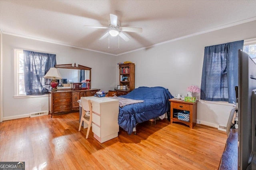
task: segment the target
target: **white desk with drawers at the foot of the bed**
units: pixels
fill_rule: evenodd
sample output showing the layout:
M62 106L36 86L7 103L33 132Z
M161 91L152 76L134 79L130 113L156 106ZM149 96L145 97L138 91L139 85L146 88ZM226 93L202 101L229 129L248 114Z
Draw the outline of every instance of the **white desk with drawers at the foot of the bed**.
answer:
M81 97L82 98L82 97ZM100 143L118 136L119 101L108 97L84 97L92 101L92 132Z

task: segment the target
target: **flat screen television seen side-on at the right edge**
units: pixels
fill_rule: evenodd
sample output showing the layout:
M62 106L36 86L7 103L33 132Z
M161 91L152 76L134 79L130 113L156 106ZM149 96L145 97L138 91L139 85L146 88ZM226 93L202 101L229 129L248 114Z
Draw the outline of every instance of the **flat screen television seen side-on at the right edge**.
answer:
M256 63L238 51L238 169L256 170Z

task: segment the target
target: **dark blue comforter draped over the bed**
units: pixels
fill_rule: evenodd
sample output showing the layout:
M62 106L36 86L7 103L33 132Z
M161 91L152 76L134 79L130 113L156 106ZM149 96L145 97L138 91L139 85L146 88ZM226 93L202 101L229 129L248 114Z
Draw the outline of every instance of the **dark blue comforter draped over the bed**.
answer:
M127 95L119 96L127 99L143 100L143 103L119 107L118 124L128 134L132 134L137 123L163 115L170 110L173 96L164 87L138 87Z

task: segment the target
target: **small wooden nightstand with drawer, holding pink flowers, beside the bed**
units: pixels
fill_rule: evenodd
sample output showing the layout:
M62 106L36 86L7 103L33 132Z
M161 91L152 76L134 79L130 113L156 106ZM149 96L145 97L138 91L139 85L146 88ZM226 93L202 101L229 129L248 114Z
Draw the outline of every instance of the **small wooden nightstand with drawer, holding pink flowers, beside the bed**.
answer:
M181 122L188 125L190 128L193 128L196 125L196 115L197 115L197 102L186 102L180 99L169 99L171 102L171 109L170 109L170 116L171 116L171 123L173 122ZM179 120L178 117L174 117L174 109L181 110L181 111L189 111L189 118L190 121L182 121Z

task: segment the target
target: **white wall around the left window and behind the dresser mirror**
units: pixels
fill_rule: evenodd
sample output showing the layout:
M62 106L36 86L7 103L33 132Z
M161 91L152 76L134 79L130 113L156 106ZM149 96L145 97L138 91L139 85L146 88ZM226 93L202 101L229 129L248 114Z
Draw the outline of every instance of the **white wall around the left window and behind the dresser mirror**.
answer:
M48 96L14 99L14 48L56 54L57 64L77 63L92 68L92 88L108 91L116 87L116 56L64 45L3 34L3 120L28 117L48 111Z

